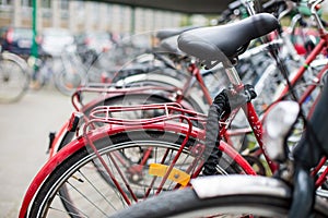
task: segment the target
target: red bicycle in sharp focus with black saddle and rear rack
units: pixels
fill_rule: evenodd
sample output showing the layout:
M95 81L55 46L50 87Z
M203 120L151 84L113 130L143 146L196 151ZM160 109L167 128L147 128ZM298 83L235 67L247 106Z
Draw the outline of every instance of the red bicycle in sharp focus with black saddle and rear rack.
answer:
M255 21L260 23L260 28L256 27ZM253 38L268 34L278 26L276 17L269 14L258 14L234 25L213 27L212 29L215 29L215 34L216 32L223 33L223 31L225 34L231 33L229 36L234 37L239 36L236 33L239 33L241 28L245 31L243 37L232 41L234 47L224 50L227 52L227 57L235 58L234 55L237 55L239 47ZM200 36L202 35L200 31L203 29L195 31L196 33L199 31ZM187 32L183 35L188 36L190 33L195 32ZM210 40L208 45L213 45L211 38L211 36L203 37L203 39ZM221 46L226 45L221 41L226 36L219 38L215 36L218 39L215 47L213 50L208 50L210 56L206 58L214 57L222 60L224 56L221 56L216 46L222 50ZM198 39L198 37L192 37L192 39ZM197 40L195 41L197 43ZM188 37L186 37L186 45L188 43ZM239 94L235 96L239 104L229 108L229 101L226 102L229 99L224 96L229 95L226 92L221 93L214 102L222 102L222 111L226 112L224 116L231 112L229 109L238 109L247 102L249 123L262 147L261 123L250 102L255 97L253 88L245 86L244 92L244 84L234 68L231 64L224 66L229 66L226 73L234 85L232 93ZM119 117L127 111L139 111L144 114L152 111L151 113L161 116L151 118L141 116L141 119L137 117L134 120ZM235 113L230 114L232 116L220 117L222 118L220 119L221 136L229 131ZM224 141L221 141L220 145L218 144L218 150L221 153L212 156L215 158L207 158L209 150L204 146L206 117L186 110L176 104L96 107L90 112L83 130L79 131L78 124L82 119L78 114L73 114L68 124L68 131L74 132L77 140L57 153L35 177L33 185L30 186L24 198L21 216L25 216L27 209L30 216L46 214L50 216L57 211L68 213L71 216L85 216L89 213L98 213L99 216L108 215L113 210L131 205L133 202L139 202L161 191L188 185L190 178L196 178L203 172L204 162L208 162L208 159L219 158L218 155L220 158L212 161L215 165L214 173L256 174L248 161ZM218 118L210 117L208 120L218 125ZM216 129L208 125L207 130L215 132ZM219 131L216 133L219 135ZM214 142L218 138L214 138ZM266 155L266 153L263 154ZM211 150L210 155L212 155ZM270 162L268 157L267 160L272 171L276 171L277 166L272 161ZM106 193L103 193L102 190L106 190ZM110 194L113 201L106 201L108 199L107 194ZM104 207L98 204L99 198L102 198ZM97 204L94 201L97 201ZM60 207L61 204L63 207Z

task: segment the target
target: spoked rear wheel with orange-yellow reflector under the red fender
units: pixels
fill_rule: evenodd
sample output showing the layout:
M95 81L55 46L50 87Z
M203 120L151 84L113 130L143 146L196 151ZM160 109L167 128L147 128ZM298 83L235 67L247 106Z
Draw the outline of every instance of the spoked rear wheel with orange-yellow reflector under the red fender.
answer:
M155 195L163 170L172 162L184 138L171 132L134 131L98 140L95 146L113 177L106 173L86 145L49 174L34 198L28 217L103 217ZM162 191L180 186L183 182L179 179L194 173L200 162L199 155L192 153L191 147L198 143L189 138L174 167L176 174L164 183ZM239 172L232 162L222 157L221 173Z

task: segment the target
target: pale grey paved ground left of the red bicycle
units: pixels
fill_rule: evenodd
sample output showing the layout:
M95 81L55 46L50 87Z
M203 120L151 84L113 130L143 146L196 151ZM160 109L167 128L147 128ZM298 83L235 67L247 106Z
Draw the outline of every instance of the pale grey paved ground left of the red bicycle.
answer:
M33 177L47 160L49 131L71 114L70 98L51 88L0 105L0 218L16 218Z

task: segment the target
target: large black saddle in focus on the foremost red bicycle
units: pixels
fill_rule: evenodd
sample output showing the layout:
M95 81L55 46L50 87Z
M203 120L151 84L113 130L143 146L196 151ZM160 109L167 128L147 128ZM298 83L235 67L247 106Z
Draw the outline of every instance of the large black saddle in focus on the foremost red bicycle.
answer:
M225 57L233 60L241 55L239 48L278 27L273 15L259 13L231 24L184 32L178 37L178 48L202 61L224 61Z

